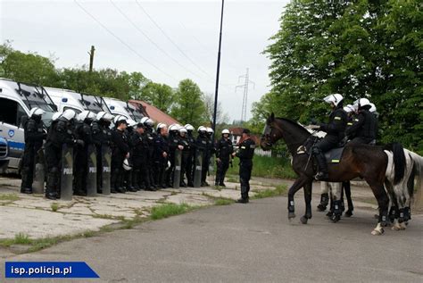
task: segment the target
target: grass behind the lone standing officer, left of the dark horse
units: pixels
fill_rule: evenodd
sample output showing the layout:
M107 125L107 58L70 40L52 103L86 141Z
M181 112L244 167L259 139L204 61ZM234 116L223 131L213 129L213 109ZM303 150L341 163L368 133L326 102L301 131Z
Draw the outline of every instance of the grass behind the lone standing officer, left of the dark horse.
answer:
M233 167L229 167L228 174L238 175L239 165L234 162ZM282 157L268 157L254 155L253 157L253 177L263 178L286 178L294 179L296 177L291 167L291 161ZM228 180L232 182L233 180ZM237 182L235 180L234 182Z

